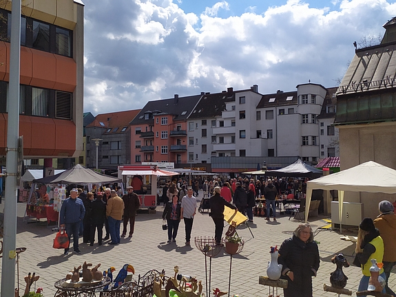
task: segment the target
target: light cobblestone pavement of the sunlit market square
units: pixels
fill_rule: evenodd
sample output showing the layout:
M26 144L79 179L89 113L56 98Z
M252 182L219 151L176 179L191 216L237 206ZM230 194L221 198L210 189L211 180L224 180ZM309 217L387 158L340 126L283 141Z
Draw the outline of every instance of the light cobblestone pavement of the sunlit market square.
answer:
M202 197L202 193L200 195ZM198 200L200 199L198 197ZM0 204L3 209L4 202ZM208 213L198 213L194 219L193 231L191 234L191 247L185 246L185 225L183 221L177 236L177 243L166 243L167 231L163 231L161 215L163 206L158 206L156 214L138 214L136 217L135 233L132 239L123 238L119 245L93 247L89 244L81 243L82 254L70 253L63 256L63 250L52 248L55 232L48 228L45 222L26 223L23 222L25 204L18 204L18 225L17 225L17 248L25 247L27 250L21 253L19 284L24 289L25 282L23 276L28 272L36 272L40 276L37 287L43 287L44 296L54 296L56 289L54 283L64 278L67 272L74 266L82 265L84 261L88 263L101 263L101 270L107 270L114 266L118 270L125 264L134 266L136 276L145 274L148 270L156 269L172 275L175 265L178 265L181 273L196 276L202 280L205 291L205 256L200 252L192 239L195 236L214 236L214 224ZM350 263L353 261L353 251L355 244L350 241L340 240L341 234L331 230L319 230L326 223L321 219L324 217L312 217L310 223L313 230L316 230L315 240L320 242L320 269L317 277L313 278L313 296L337 296L335 293L323 291L324 283L330 285L330 273L335 270L335 265L331 263L331 257L336 253L344 253ZM266 221L263 217L255 217L254 223L249 223L251 232L246 225L238 228L238 234L246 241L244 249L239 255L233 256L231 273L231 296L269 296L268 287L258 284L259 276L266 276L267 263L271 257L269 249L271 245L280 245L284 239L289 238L297 228L299 221L289 220L289 215L282 214L277 222ZM103 228L104 230L104 228ZM225 228L227 230L227 228ZM344 234L353 234L355 230L344 230ZM356 235L356 233L354 234ZM71 249L72 250L72 249ZM209 266L209 261L208 261ZM230 256L225 252L220 252L211 262L211 287L218 287L221 291L227 292L229 283ZM0 267L1 269L1 267ZM357 285L361 276L358 267L344 268L348 276L346 289L351 289L355 295ZM396 289L396 276L390 274L390 287ZM283 296L279 290L280 296Z

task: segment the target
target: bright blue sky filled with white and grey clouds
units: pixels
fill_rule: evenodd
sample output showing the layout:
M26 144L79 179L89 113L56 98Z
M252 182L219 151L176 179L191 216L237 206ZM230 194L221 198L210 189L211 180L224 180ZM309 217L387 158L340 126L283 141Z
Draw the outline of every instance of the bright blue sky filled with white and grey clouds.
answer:
M337 86L353 41L382 36L396 0L83 0L94 115L258 85Z

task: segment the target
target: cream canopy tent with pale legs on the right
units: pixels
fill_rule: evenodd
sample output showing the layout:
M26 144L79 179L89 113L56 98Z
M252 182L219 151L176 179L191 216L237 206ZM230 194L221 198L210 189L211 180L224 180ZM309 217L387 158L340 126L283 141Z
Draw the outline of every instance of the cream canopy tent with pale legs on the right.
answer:
M340 191L340 195L338 195L338 211L340 212L341 221L344 191L395 194L396 170L373 161L368 161L338 173L307 181L305 209L309 209L312 190L314 189ZM308 212L305 213L305 221L308 221Z

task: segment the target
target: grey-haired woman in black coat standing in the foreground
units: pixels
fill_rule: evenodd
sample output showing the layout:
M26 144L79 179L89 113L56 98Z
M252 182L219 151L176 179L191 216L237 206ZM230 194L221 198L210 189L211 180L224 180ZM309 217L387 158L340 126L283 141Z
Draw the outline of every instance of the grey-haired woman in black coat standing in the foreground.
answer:
M288 281L284 297L312 297L312 276L316 276L320 259L311 225L299 225L293 237L282 243L279 254L281 278Z

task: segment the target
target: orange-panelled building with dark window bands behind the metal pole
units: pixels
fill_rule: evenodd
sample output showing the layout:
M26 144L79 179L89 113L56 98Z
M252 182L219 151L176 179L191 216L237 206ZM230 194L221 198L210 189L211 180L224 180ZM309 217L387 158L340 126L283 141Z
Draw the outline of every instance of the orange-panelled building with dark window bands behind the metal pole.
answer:
M6 155L11 1L0 3L0 156ZM23 1L19 135L26 159L78 157L83 146L84 5Z

